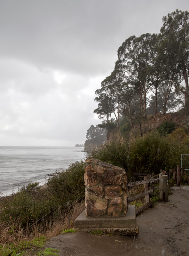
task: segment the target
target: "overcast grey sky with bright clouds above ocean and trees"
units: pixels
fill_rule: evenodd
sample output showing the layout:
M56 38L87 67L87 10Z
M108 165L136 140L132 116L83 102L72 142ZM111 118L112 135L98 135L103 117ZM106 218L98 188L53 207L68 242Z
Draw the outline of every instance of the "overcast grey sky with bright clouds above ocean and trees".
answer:
M188 0L0 0L0 146L74 146L129 36Z

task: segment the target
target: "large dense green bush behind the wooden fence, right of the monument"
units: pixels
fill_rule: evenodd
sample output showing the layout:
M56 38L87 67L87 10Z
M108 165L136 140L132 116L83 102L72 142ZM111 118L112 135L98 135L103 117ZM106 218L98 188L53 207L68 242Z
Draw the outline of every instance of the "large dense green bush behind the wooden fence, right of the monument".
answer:
M177 129L169 136L152 132L138 137L130 145L128 169L132 172L158 174L181 164L181 154L189 153L189 136Z

